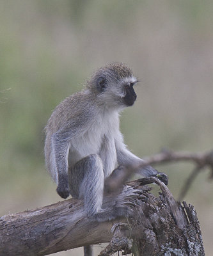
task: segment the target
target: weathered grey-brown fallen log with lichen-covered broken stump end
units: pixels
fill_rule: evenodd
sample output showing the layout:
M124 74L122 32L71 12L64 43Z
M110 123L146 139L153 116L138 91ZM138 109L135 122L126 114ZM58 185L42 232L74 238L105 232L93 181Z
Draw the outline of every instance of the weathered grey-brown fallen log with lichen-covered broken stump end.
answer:
M146 184L157 183L155 197ZM128 182L119 195L106 195L104 207L127 206L130 216L97 223L80 200L69 199L0 218L0 255L49 255L89 244L109 245L100 255L124 250L134 255L205 255L193 205L180 205L156 178Z

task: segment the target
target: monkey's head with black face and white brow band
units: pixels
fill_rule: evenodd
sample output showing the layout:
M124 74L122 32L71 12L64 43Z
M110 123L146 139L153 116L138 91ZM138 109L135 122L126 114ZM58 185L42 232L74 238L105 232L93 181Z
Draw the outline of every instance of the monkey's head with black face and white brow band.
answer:
M134 104L137 95L133 86L137 82L127 65L111 63L95 72L88 87L95 92L100 104L122 109Z

